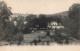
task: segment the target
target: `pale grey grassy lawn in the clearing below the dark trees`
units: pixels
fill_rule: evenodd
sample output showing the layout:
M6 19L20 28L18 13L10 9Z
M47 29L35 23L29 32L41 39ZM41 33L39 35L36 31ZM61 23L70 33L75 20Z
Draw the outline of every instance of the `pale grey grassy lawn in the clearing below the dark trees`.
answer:
M30 34L24 34L24 42L31 42L34 39L37 39L39 36L45 36L46 32L44 31L37 31Z

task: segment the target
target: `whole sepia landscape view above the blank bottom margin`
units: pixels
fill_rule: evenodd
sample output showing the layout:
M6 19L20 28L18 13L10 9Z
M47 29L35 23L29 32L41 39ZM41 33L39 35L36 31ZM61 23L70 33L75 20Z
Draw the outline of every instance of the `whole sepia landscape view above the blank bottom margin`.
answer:
M80 45L80 0L0 0L0 46Z

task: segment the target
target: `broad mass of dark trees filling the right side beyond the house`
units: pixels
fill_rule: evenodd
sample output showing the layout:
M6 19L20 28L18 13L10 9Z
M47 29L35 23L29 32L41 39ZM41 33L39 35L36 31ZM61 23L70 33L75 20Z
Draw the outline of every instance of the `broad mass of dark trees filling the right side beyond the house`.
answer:
M61 23L65 27L65 33L78 40L80 40L79 20L80 20L80 4L73 4L69 8L68 16L61 18Z

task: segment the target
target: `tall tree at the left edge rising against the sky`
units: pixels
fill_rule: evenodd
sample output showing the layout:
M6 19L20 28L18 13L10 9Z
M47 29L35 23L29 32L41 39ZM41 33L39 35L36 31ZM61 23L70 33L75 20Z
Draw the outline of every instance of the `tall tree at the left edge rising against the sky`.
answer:
M11 14L7 4L4 1L0 1L0 40L4 37L7 22Z

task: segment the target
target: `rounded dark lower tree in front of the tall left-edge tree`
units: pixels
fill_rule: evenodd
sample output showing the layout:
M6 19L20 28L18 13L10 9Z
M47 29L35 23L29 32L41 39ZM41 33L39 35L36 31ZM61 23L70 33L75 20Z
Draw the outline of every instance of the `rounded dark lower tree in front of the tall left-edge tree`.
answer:
M3 34L3 40L5 41L14 41L14 37L19 32L18 28L14 26L14 23L8 22L7 27L5 28L4 34Z

